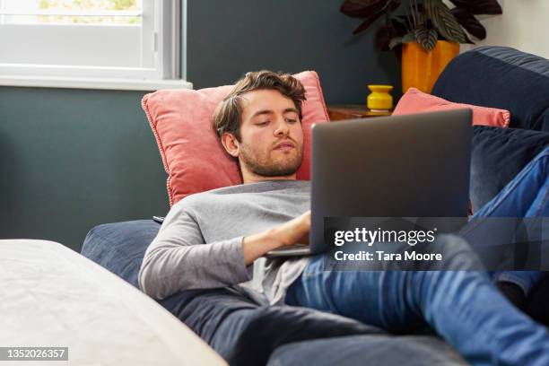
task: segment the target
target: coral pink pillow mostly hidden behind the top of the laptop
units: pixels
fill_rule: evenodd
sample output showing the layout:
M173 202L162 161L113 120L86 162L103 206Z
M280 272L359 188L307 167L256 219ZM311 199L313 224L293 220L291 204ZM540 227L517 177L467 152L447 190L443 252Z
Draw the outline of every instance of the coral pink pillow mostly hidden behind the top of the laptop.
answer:
M448 100L435 97L431 94L418 91L415 88L408 89L408 92L398 100L393 115L414 114L420 112L434 112L437 110L450 109L473 109L473 125L507 127L510 121L510 112L505 109L479 107L471 104L452 103Z

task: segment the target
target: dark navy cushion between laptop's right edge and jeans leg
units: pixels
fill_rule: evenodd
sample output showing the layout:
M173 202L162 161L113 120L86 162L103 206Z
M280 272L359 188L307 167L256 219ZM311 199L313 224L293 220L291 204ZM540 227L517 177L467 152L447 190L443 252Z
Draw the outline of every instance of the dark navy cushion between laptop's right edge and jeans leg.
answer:
M549 145L549 133L474 126L470 199L475 213Z

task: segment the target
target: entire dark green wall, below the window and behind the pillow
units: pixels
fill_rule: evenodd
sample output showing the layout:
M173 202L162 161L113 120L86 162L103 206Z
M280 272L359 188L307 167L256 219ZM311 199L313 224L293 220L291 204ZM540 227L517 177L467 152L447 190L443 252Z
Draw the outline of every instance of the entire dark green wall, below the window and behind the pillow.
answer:
M232 83L249 70L316 70L328 103L361 103L368 83L399 89L395 57L339 0L188 0L187 79ZM144 92L0 87L0 239L80 250L94 225L168 209Z

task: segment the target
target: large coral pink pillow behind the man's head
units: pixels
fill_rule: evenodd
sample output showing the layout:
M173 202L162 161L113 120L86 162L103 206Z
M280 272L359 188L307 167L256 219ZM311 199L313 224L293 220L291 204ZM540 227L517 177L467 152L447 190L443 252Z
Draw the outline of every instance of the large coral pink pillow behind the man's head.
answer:
M310 128L327 122L318 74L294 76L303 83L303 162L297 179L310 176ZM142 106L153 128L164 169L168 173L170 205L193 193L242 183L237 163L225 153L213 132L213 111L232 85L192 90L163 90L144 96Z

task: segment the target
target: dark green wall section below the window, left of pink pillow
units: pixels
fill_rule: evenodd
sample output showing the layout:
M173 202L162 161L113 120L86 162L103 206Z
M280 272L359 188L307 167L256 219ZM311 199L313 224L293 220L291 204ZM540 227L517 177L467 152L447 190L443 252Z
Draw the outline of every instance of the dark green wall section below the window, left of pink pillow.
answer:
M166 212L142 95L0 88L0 238L80 250L96 224Z

